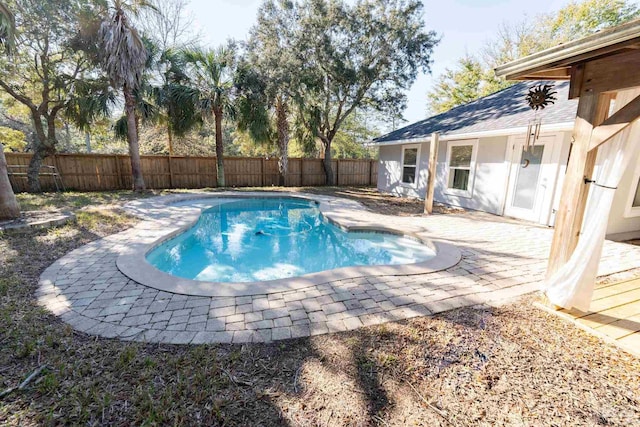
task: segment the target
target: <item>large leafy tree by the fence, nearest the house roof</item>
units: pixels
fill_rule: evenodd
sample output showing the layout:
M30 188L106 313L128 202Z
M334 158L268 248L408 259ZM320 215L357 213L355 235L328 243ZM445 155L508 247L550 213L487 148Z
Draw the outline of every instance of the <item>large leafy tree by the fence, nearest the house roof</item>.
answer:
M401 110L417 73L429 70L437 37L424 28L419 0L305 0L295 8L295 137L305 151L321 141L331 185L331 144L345 120L356 109Z

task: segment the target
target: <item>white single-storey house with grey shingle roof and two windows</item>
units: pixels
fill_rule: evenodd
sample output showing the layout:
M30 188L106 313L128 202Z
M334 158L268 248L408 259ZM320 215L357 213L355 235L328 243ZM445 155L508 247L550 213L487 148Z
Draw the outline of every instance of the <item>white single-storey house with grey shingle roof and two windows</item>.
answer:
M553 105L536 112L524 99L538 84L554 84L558 93ZM437 132L436 202L553 226L577 109L568 90L568 82L525 81L376 138L378 190L424 198ZM525 149L534 119L542 123L539 138ZM640 160L616 190L609 238L640 237L639 181Z

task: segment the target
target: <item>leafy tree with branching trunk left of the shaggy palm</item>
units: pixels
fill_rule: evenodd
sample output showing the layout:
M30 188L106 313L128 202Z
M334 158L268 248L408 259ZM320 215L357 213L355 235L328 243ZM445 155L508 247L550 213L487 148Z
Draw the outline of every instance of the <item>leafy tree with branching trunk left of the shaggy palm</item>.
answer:
M55 133L42 123L55 125L58 114L73 103L76 88L92 79L94 69L72 40L79 16L94 10L93 2L24 0L7 2L15 12L15 54L2 60L0 86L24 105L36 127L36 150L55 149Z

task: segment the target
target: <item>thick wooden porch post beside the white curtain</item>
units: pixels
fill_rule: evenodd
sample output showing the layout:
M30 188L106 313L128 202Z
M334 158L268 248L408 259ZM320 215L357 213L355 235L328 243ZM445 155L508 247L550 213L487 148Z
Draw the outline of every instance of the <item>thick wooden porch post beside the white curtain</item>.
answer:
M598 154L597 149L589 151L589 141L593 128L607 117L611 98L612 95L594 92L583 92L580 95L578 116L573 129L575 140L556 214L547 277L566 264L578 244L589 194L585 177L591 178Z

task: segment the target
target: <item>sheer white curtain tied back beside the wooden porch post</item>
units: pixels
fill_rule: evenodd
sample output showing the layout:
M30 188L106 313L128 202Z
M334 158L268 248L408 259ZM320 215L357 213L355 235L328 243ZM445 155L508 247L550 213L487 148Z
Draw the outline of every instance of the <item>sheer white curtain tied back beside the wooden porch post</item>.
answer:
M638 94L638 89L619 92L614 112ZM640 122L600 146L600 167L596 182L591 184L578 245L569 262L544 283L544 291L553 304L589 311L615 189L630 162L638 158L639 150Z

